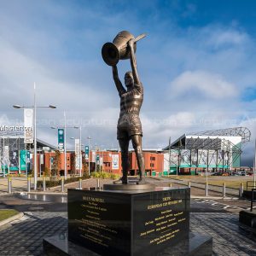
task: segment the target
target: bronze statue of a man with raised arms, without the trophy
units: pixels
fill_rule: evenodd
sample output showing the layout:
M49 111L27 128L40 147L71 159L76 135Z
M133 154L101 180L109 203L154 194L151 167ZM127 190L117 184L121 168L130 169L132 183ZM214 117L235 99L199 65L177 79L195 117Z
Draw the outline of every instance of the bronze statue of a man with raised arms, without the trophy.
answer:
M123 177L122 183L128 183L127 175L129 172L129 142L137 156L137 166L139 169L138 183L145 183L145 165L143 157L142 137L143 129L139 118L140 109L143 104L143 84L137 73L137 61L135 56L135 41L131 38L128 42L130 50L131 70L125 73L125 86L119 80L118 69L113 65L113 80L119 91L120 97L120 114L117 125L117 138L121 148Z

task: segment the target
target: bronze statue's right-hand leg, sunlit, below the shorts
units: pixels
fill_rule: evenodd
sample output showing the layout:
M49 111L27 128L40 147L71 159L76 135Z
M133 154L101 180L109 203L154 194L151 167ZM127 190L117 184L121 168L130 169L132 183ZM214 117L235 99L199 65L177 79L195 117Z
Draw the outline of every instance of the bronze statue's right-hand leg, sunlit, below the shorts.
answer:
M137 166L139 168L139 183L145 183L145 163L143 157L143 140L141 135L132 135L131 136L132 146L135 150L137 157Z

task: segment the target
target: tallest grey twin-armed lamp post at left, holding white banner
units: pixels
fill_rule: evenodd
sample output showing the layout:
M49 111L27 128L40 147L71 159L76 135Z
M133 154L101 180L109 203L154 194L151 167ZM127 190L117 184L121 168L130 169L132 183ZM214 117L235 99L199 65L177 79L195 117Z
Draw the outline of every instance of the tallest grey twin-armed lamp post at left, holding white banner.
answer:
M34 190L37 190L38 182L38 150L37 150L37 108L56 108L53 105L49 106L37 106L36 101L36 84L34 84L34 104L30 107L14 105L13 108L33 108L34 109Z

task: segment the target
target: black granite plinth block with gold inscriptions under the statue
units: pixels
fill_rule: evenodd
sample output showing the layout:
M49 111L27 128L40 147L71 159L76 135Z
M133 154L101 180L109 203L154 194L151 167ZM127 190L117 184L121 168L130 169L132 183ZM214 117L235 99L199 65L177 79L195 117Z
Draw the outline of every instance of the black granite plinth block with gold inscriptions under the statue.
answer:
M68 189L67 202L68 240L100 255L157 255L189 241L189 188Z

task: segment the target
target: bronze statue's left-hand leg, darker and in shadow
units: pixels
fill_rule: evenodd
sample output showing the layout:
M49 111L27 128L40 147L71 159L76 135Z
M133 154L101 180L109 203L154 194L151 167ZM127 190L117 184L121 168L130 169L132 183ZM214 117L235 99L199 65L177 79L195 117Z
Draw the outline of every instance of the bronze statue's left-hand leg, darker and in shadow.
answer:
M129 138L121 138L119 139L119 146L121 148L121 158L122 158L122 168L123 168L123 177L122 183L128 183L128 172L130 168L129 163Z

